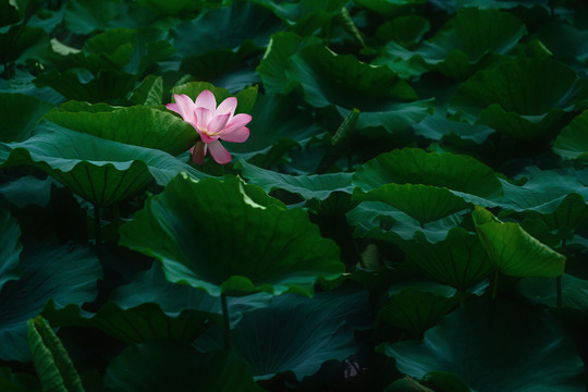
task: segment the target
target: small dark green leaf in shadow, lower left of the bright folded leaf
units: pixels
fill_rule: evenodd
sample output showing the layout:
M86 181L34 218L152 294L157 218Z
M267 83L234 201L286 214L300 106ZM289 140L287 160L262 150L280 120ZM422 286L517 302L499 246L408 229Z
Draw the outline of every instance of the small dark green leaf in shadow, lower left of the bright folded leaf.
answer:
M389 294L378 315L380 322L403 331L422 333L460 302L460 294L449 286L426 282L416 286L407 285L393 286L394 292Z

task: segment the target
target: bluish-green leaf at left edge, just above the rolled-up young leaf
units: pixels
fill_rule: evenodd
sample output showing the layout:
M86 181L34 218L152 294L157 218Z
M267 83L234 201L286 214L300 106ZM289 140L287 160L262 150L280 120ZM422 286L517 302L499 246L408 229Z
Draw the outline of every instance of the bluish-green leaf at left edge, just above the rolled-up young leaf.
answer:
M37 247L21 257L21 278L0 292L0 358L30 359L26 322L49 299L59 307L83 304L96 296L101 266L89 248Z

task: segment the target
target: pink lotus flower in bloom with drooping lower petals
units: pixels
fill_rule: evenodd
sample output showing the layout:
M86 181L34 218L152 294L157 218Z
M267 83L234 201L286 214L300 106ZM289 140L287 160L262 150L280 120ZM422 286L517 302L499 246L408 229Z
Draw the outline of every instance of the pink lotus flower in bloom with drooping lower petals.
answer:
M235 97L226 98L218 107L215 95L209 90L200 93L195 102L185 94L174 94L173 99L175 103L168 103L166 108L182 115L200 135L200 140L191 149L194 163L203 164L208 150L218 163L229 163L231 154L220 139L243 143L249 137L249 128L245 125L252 121L252 117L234 114L237 105Z

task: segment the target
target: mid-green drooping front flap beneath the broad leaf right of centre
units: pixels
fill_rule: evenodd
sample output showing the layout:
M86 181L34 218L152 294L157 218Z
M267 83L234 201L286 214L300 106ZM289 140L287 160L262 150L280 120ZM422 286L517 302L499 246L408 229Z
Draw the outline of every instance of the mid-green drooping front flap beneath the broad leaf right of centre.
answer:
M385 184L367 193L355 188L353 199L384 201L421 223L433 222L470 207L448 188L420 184Z

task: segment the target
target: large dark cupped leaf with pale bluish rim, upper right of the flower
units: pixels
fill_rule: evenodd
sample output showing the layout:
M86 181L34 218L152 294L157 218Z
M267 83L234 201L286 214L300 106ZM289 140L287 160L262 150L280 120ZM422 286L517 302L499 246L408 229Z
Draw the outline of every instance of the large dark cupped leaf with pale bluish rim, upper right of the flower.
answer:
M295 49L295 39L284 36L282 40L286 40L289 47L275 49L274 56L270 48L266 53L267 65L259 70L274 90L287 91L297 83L311 106L334 105L343 118L354 108L359 109L357 128L384 126L391 133L422 120L432 110L431 99L417 101L414 89L385 66L369 65L352 54L336 54L322 44L305 41L299 42L297 51L285 61ZM284 64L287 66L285 78L282 76Z

